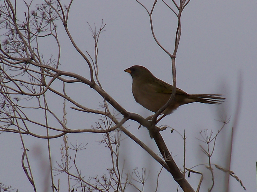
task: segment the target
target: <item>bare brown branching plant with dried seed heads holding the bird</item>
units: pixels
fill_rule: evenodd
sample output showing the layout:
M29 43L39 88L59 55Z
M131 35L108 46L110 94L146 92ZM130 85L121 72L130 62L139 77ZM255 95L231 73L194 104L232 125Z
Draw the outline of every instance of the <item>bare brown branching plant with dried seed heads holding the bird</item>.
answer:
M136 0L137 1L137 0ZM175 45L173 53L171 54L166 48L164 48L156 38L153 30L152 13L156 6L157 0L154 1L151 10L148 10L140 1L137 1L143 6L149 15L151 31L154 40L161 47L161 49L167 53L171 58L172 63L172 77L173 77L173 90L169 101L158 110L151 121L144 119L139 114L131 113L124 109L118 102L116 102L111 95L109 95L101 86L98 79L98 40L102 31L104 31L105 24L102 23L99 29L96 26L91 27L90 30L93 33L95 41L94 56L90 56L88 52L83 52L77 46L76 42L72 38L68 28L69 11L72 5L72 0L67 6L61 4L60 0L44 0L43 3L36 5L35 10L32 5L34 1L25 2L27 7L24 20L17 18L17 7L16 1L11 2L10 0L4 0L0 8L0 24L1 24L1 47L0 47L0 92L1 92L1 113L0 113L0 131L11 132L20 134L21 142L23 145L22 155L22 167L29 179L31 185L36 191L35 182L33 179L32 169L29 164L29 158L27 156L27 148L23 141L23 135L31 135L32 137L44 138L48 141L48 155L50 164L51 174L51 188L52 191L59 191L58 184L54 182L54 175L58 173L66 173L68 176L69 191L71 190L70 179L75 179L75 187L81 191L124 191L128 185L133 186L138 191L144 191L144 183L147 179L146 171L142 169L141 173L138 170L134 170L132 173L124 173L123 168L120 169L118 164L119 157L119 145L121 132L125 133L134 142L140 145L146 152L148 152L161 166L162 171L165 168L172 176L173 179L178 183L183 191L194 191L191 185L185 178L186 170L192 173L196 173L191 169L186 169L184 161L184 170L181 172L179 167L173 160L171 153L168 150L161 134L160 128L156 126L157 117L164 111L167 106L172 102L176 93L176 67L175 58L178 51L180 36L181 36L181 15L190 2L190 0L180 0L177 4L172 0L172 6L162 1L170 10L173 12L177 19L178 25L175 34ZM172 8L174 7L174 8ZM84 59L88 65L90 71L89 77L82 77L79 74L75 74L60 69L60 52L61 47L57 35L57 24L61 23L69 37L70 42ZM40 52L40 39L42 38L53 38L55 44L58 47L57 55L50 57L45 60ZM55 88L54 82L62 84L62 87ZM102 109L90 109L80 104L75 99L71 98L66 93L67 84L71 83L83 83L89 86L91 89L96 91L102 98L103 104ZM49 97L51 95L57 95L60 99L64 99L63 104L63 116L59 117L54 112L54 107L49 106ZM96 124L96 127L92 129L73 129L67 126L66 120L66 102L70 102L74 106L72 109L101 115L101 122ZM123 119L119 120L115 113L111 113L110 106L114 108L119 114L123 115ZM31 118L31 113L38 113L44 117L44 121L38 121ZM54 120L54 122L53 122ZM154 141L156 142L162 158L154 153L148 146L142 141L132 135L123 124L133 120L138 122L140 125L146 127ZM57 128L55 124L59 124L62 128ZM226 121L223 122L224 125ZM167 127L166 127L167 128ZM39 129L35 131L35 129ZM42 132L45 130L45 134ZM161 130L164 130L161 127ZM207 132L207 131L206 131ZM112 168L108 169L109 175L103 175L100 178L94 177L85 179L82 176L79 167L76 164L76 158L80 150L85 149L86 144L68 144L66 137L67 133L100 133L103 134L104 143L110 150ZM219 132L218 132L219 133ZM217 134L218 134L217 133ZM206 133L206 135L208 135ZM50 150L50 139L58 138L63 136L64 145L62 146L62 159L57 162L57 166L52 165L51 161L51 150ZM217 136L217 135L216 135ZM216 140L216 136L211 138L211 135L204 137L204 142L207 144L207 150L201 146L204 153L209 157L208 169L212 172L212 164L210 158L213 150L210 150L209 143ZM186 137L183 137L184 141ZM215 145L215 144L214 144ZM73 156L70 155L70 151L74 152ZM185 155L184 155L185 156ZM184 158L185 159L185 158ZM71 165L72 163L72 165ZM71 166L75 168L77 174L73 174L70 171ZM219 167L222 170L222 168ZM224 169L225 170L225 169ZM227 172L231 173L230 170ZM157 187L160 173L157 176ZM202 180L202 179L201 179ZM142 188L138 188L134 182L142 184ZM199 183L197 191L199 191L201 181ZM213 177L214 185L214 177ZM212 187L209 191L212 190ZM47 190L47 189L45 189ZM74 191L71 190L71 191Z

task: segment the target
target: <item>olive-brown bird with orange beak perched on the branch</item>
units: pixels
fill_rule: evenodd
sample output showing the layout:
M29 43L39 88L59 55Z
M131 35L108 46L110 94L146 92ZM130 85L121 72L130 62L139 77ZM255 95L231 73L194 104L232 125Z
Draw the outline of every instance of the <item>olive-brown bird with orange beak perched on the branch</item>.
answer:
M172 85L154 77L145 67L134 65L124 71L130 73L133 79L132 93L136 102L146 109L157 112L169 100L172 93ZM174 100L162 112L163 116L160 119L171 114L180 105L194 102L220 104L225 98L218 96L221 96L221 94L190 95L177 88Z

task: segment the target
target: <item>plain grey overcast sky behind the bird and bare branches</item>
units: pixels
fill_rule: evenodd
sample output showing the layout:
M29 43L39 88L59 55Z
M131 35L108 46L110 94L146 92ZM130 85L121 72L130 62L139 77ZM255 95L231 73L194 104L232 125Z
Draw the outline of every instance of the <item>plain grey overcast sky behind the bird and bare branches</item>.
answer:
M150 9L150 1L141 1ZM168 1L167 1L168 2ZM22 10L23 12L23 10ZM237 86L239 73L242 74L242 104L240 118L233 143L231 170L242 180L247 191L256 190L257 160L257 77L256 77L256 52L257 52L257 9L255 1L197 1L191 0L182 13L182 34L176 57L177 87L190 94L224 93L226 94L226 114L231 116L231 123L226 131L231 129L234 120ZM68 28L77 45L83 52L94 54L94 41L88 22L91 26L99 27L102 19L106 23L105 30L99 39L99 79L103 89L107 91L126 110L138 113L144 117L152 112L144 109L134 101L129 74L124 69L132 65L142 65L148 68L156 77L172 84L171 61L154 41L148 14L136 1L74 1L68 21ZM175 15L158 1L153 13L155 35L159 42L173 52L177 20ZM78 73L89 78L88 67L81 56L71 46L61 23L58 25L58 35L61 44L61 70ZM41 51L48 58L50 54L56 57L56 45L51 44L51 39L42 40ZM58 83L54 86L60 86ZM60 86L61 87L61 86ZM76 101L88 108L96 109L102 102L94 90L83 84L67 86L67 93ZM52 106L61 115L62 99L53 99ZM67 103L68 126L72 129L88 129L99 116L83 114L69 109ZM218 107L214 105L193 103L181 106L173 114L165 117L161 124L166 124L180 133L186 130L187 137L187 163L188 168L203 163L205 157L200 152L199 144L195 137L200 138L199 131L214 130L221 127L217 113ZM32 114L31 114L32 115ZM148 131L142 127L137 132L138 124L132 121L125 123L127 129L140 138L155 152L158 149L149 137ZM169 130L163 131L162 136L166 142L177 165L182 168L183 141L176 133L170 134ZM40 161L34 158L33 148L41 146L44 151L46 140L24 136L27 148L31 153L31 164L35 169L35 180L41 185L41 172L36 170ZM102 135L97 134L71 134L69 142L88 143L87 149L80 154L79 164L84 169L86 178L102 175L110 167L109 153L103 144L97 140ZM218 139L213 163L224 162L224 148L226 137ZM60 147L62 138L51 140L53 163L60 161ZM223 146L222 146L223 145ZM5 185L12 185L19 191L32 191L32 188L22 171L21 144L19 135L3 133L0 135L0 181ZM146 154L133 141L126 138L122 141L122 157L126 158L126 168L146 167L150 169L149 180L157 177L161 166L152 157ZM130 158L135 155L136 158ZM56 164L54 164L56 166ZM84 167L83 167L84 166ZM206 171L206 168L196 168ZM215 171L216 177L220 171ZM57 176L58 177L58 176ZM196 189L199 176L191 174L189 183ZM205 178L208 178L206 176ZM244 191L235 179L231 178L231 191ZM221 182L221 181L220 181ZM64 180L63 180L63 183ZM150 183L150 182L149 182ZM148 183L148 187L152 187ZM215 191L219 191L219 181ZM209 185L203 185L206 191ZM206 187L206 188L204 188ZM159 191L175 191L177 184L172 176L163 170ZM65 188L64 188L65 189ZM39 187L39 191L40 191ZM151 190L154 191L154 190ZM180 189L181 191L181 189Z

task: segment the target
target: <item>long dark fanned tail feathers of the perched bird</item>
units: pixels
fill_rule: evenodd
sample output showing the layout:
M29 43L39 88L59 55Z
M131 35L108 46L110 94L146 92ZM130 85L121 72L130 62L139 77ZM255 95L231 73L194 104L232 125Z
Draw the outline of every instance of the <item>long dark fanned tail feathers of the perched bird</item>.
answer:
M194 100L193 102L209 103L209 104L220 104L224 101L222 94L192 94L189 99Z

